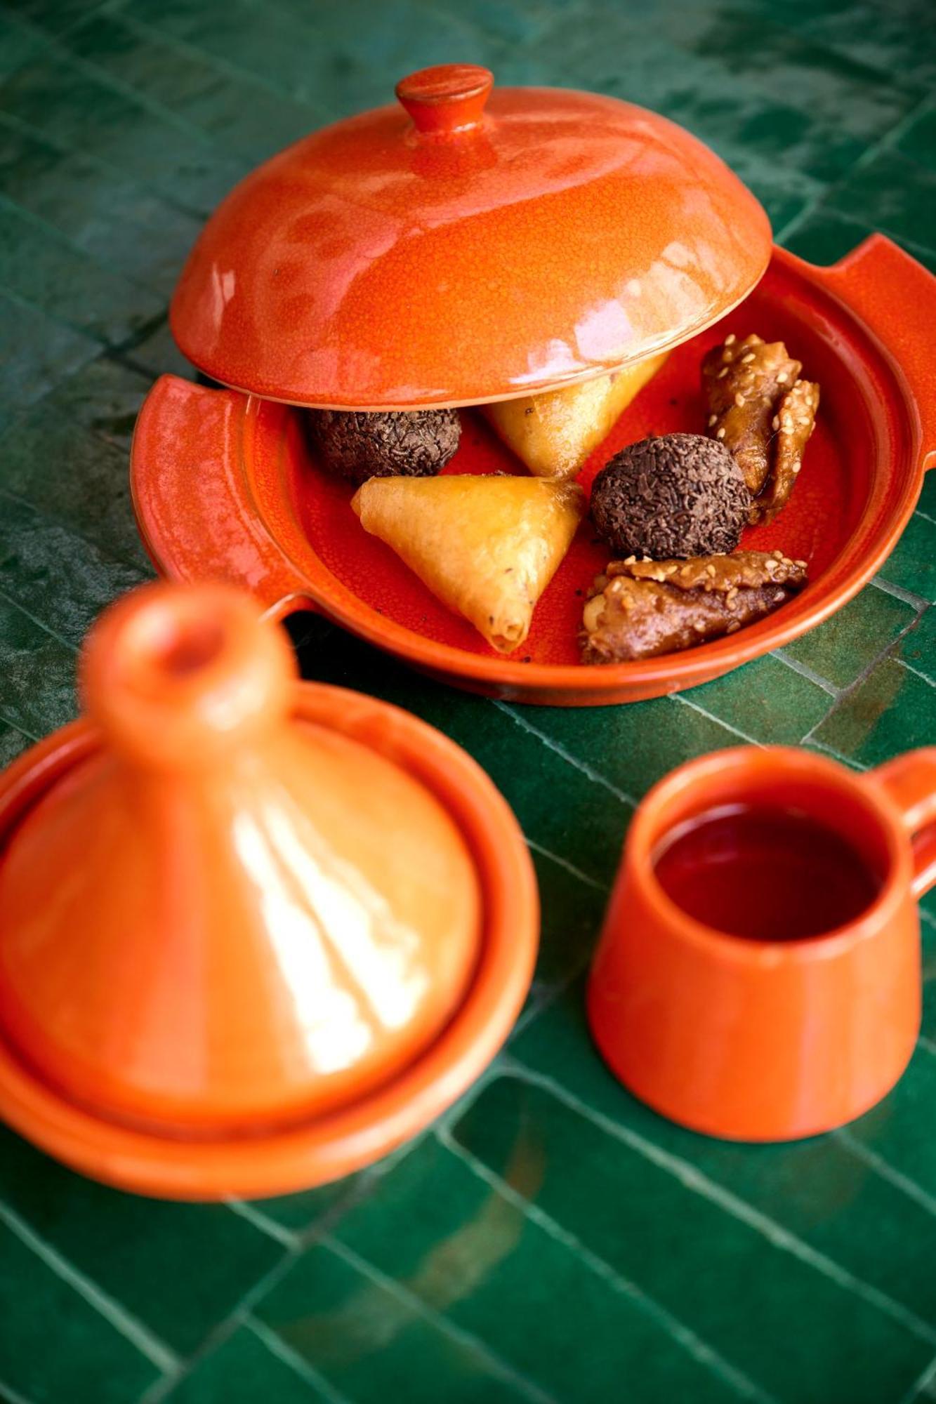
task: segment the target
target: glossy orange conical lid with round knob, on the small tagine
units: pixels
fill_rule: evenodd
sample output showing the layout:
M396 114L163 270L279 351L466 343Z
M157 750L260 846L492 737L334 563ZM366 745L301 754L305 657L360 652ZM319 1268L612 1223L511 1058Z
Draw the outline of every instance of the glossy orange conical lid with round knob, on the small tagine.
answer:
M440 802L291 717L285 635L152 585L89 637L103 744L0 861L0 1031L97 1116L216 1136L394 1078L457 1011L479 886Z

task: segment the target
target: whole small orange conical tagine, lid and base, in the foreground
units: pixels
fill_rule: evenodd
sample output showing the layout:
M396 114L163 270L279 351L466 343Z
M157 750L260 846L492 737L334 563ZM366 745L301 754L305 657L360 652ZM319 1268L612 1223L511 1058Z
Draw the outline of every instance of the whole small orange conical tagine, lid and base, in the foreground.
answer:
M83 694L0 781L0 1113L187 1198L318 1184L423 1126L535 955L490 782L405 713L298 684L223 584L112 607Z

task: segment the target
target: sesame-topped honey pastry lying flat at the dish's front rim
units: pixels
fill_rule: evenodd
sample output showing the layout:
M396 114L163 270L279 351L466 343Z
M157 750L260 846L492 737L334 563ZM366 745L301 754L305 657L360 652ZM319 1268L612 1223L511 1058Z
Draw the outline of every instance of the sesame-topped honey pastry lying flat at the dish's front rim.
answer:
M582 661L630 663L721 639L773 614L805 584L805 562L780 550L613 560L585 605Z

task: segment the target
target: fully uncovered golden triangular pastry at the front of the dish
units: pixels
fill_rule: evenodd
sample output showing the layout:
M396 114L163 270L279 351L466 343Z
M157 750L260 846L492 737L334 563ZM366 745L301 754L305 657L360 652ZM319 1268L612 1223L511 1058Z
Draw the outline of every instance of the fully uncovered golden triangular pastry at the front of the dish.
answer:
M444 605L512 653L585 517L585 493L509 475L371 477L351 507Z

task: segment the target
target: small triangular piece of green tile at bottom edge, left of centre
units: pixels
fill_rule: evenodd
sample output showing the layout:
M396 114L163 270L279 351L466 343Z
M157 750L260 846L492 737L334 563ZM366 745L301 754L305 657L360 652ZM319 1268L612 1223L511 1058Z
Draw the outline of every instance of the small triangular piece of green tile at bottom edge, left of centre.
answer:
M273 1355L250 1327L242 1325L223 1345L204 1356L191 1375L166 1396L169 1404L334 1404Z

